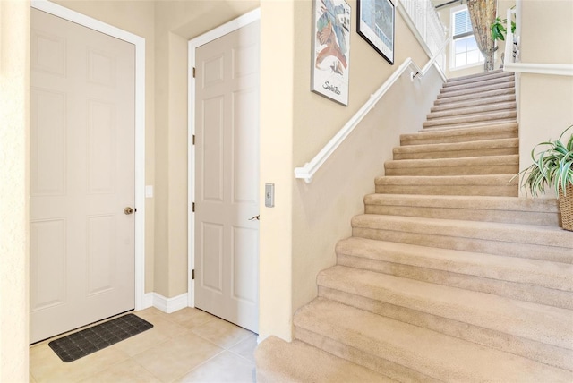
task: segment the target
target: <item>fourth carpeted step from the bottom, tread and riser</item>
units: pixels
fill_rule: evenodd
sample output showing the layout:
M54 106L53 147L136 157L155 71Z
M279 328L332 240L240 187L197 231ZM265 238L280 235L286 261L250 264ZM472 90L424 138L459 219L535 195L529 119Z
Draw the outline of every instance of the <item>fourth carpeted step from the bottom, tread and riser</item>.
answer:
M356 239L372 241L365 238ZM546 285L551 284L540 282L540 279L543 277L555 275L557 280L554 285L561 286L561 288L570 285L568 282L569 275L561 277L565 272L553 272L555 268L564 265L563 263L530 260L534 261L535 263L532 264L538 265L540 270L536 271L531 277L523 277L523 282L521 282L515 276L521 270L531 269L526 259L513 258L515 270L510 271L507 268L503 268L503 265L507 262L491 258L504 257L502 255L440 249L409 243L374 242L381 243L381 251L364 251L364 253L358 251L355 254L346 254L345 251L338 251L338 265L363 268L392 276L407 277L438 285L449 285L471 291L497 294L519 301L535 302L573 310L573 300L571 299L570 291L546 287ZM341 243L344 243L344 241L341 241ZM400 247L400 245L403 247ZM459 257L459 259L456 259L456 257ZM417 263L424 261L428 262L427 267L424 267L423 263ZM457 266L456 262L461 262L461 265ZM509 264L511 263L509 262ZM491 267L492 269L480 269L482 265L484 268ZM565 265L563 269L567 273L571 272L570 265Z

